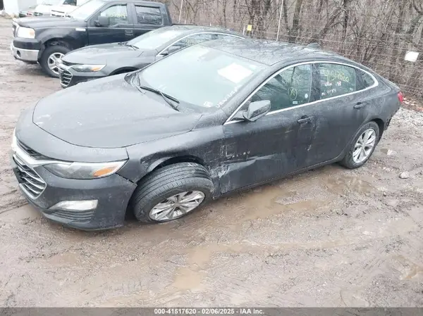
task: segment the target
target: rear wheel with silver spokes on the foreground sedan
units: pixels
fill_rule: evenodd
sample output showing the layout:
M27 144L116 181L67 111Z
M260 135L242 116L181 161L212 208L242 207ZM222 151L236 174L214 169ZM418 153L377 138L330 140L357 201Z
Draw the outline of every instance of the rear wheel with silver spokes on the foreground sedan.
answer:
M349 169L361 167L372 156L378 141L379 125L373 121L362 125L340 164Z

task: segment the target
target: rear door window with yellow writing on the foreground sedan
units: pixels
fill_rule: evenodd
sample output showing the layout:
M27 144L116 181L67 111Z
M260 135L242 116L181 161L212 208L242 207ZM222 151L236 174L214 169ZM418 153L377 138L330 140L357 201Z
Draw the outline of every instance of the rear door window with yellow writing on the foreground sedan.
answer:
M319 64L320 100L357 91L355 68L336 63Z

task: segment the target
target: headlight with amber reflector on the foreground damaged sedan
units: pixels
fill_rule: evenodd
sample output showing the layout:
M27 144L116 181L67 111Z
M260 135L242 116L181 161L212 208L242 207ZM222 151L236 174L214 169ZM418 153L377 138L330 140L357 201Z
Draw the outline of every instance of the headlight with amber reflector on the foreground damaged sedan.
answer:
M62 178L98 179L113 175L125 162L126 160L112 163L50 163L44 165L44 168Z

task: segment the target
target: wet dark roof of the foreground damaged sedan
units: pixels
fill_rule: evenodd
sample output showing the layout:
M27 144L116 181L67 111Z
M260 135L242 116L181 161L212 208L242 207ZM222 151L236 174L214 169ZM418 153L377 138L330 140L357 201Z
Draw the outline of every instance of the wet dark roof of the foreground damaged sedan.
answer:
M225 51L265 65L274 65L275 63L286 61L293 57L299 59L333 57L340 60L346 60L346 58L330 51L322 51L321 49L310 46L264 39L232 39L231 41L219 39L216 41L203 42L200 45Z

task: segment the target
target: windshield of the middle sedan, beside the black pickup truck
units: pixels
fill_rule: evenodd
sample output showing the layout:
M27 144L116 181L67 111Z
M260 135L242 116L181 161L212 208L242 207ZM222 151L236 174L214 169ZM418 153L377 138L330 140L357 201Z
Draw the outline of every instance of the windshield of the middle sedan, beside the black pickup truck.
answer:
M153 30L142 34L139 37L135 37L135 39L131 39L128 42L128 45L133 45L138 49L157 49L158 47L166 44L168 41L172 39L176 39L183 31L180 30L172 30L171 27L161 27L157 30Z

